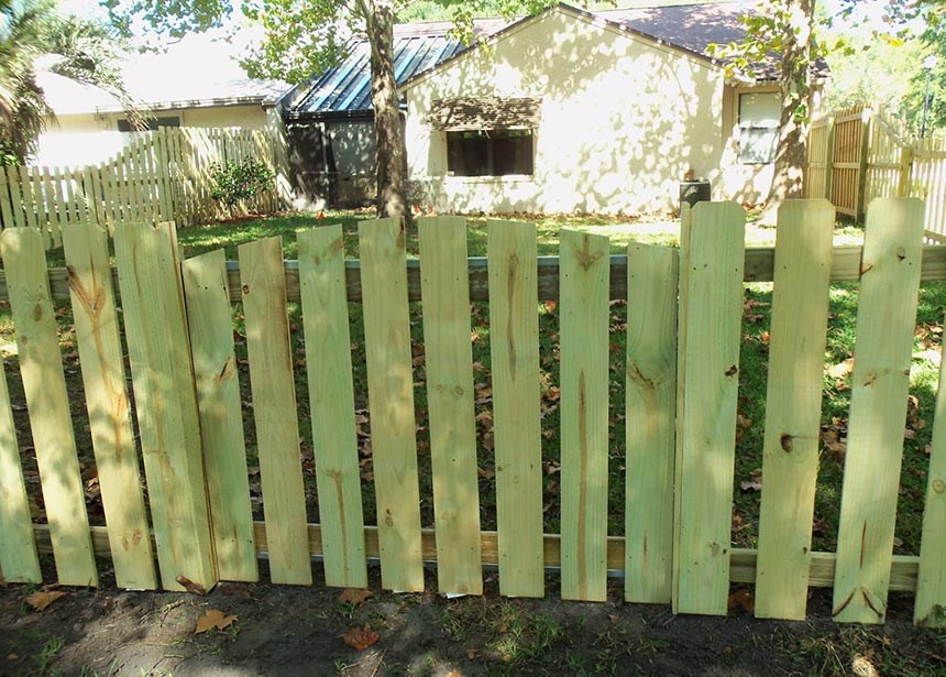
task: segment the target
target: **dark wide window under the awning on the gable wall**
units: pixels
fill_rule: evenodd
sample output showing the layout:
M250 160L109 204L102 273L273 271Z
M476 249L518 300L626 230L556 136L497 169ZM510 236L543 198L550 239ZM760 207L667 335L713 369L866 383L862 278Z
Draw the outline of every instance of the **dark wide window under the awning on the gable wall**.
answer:
M447 171L454 176L532 174L532 130L447 132Z

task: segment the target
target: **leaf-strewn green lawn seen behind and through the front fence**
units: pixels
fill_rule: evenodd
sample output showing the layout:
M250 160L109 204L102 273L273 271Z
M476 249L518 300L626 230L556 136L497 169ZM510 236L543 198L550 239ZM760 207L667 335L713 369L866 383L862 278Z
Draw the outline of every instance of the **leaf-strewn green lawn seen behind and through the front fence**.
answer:
M358 258L358 222L367 214L328 212L324 221L314 216L280 217L265 220L219 223L204 227L184 228L178 239L188 255L196 255L218 248L224 248L228 259L237 259L237 248L243 242L260 238L282 236L287 259L296 258L295 231L300 228L317 227L320 223L341 223L344 230L345 254ZM539 253L558 253L558 238L562 228L574 228L606 234L612 241L613 253L623 253L630 241L644 241L675 247L679 242L679 226L670 220L620 221L613 218L542 218L536 222L539 236ZM469 254L486 254L486 219L471 218L469 223ZM772 245L776 231L772 228L749 223L747 244L752 247ZM862 230L851 226L839 226L835 233L835 244L859 244ZM409 255L417 255L416 236L408 238ZM61 251L50 253L51 265L63 265ZM733 539L737 546L755 547L758 536L759 480L760 478L766 379L768 363L768 338L770 326L771 284L747 284L745 287L746 312L743 326L740 357L739 417L736 448L736 474L734 490ZM899 554L917 554L920 547L921 517L925 494L925 474L928 466L928 444L932 432L932 412L936 392L938 360L942 339L942 323L946 309L946 285L925 283L921 288L920 310L915 357L911 372L911 410L905 425L905 451L899 515L897 522L897 549ZM81 404L81 385L77 365L76 350L72 334L72 321L67 304L61 304L61 325L63 327L63 350L66 360L67 379L77 393L73 398L73 415L78 445L84 466L94 466L91 444L86 427L85 411ZM845 454L847 412L850 401L849 373L845 369L854 350L854 328L857 314L857 285L836 284L832 288L828 348L825 358L826 372L824 401L822 407L822 458L813 525L814 543L817 550L834 550L837 538L838 513L840 509L842 476ZM245 362L245 341L243 340L242 308L234 306L234 328L240 362L241 385L244 402L252 401L249 370ZM365 518L375 522L374 492L371 467L370 416L367 412L367 387L365 371L364 330L360 304L350 304L353 380L355 407L359 421L359 443L363 469L363 490ZM627 312L624 302L610 305L610 483L609 483L609 533L624 534L625 500L625 439L624 439L624 397L625 397L625 351ZM308 390L305 382L305 350L301 332L299 304L289 304L293 350L296 356L296 394L298 397L299 433L302 439L302 466L308 492L309 520L318 521L316 503L312 436L310 428ZM544 466L546 531L559 531L559 315L554 303L544 303L539 308L540 321L540 368L542 407L542 455ZM416 424L419 448L421 481L421 513L425 526L433 525L432 490L430 472L430 440L427 421L427 398L424 371L422 308L420 303L410 307L411 350L415 356L415 400ZM481 489L481 513L483 528L493 529L495 522L495 481L492 447L492 400L490 397L490 316L485 303L471 305L471 340L473 345L474 379L476 381L476 414L479 433L479 466ZM15 346L10 326L9 309L4 305L0 315L0 341L2 341L8 379L14 405L18 428L21 432L21 448L31 445L29 422L22 407L22 387L16 372ZM257 465L256 441L252 421L252 410L244 410L248 457L251 468ZM28 455L29 456L29 455ZM35 470L29 462L28 471ZM35 481L30 484L35 490ZM260 503L260 478L251 474L251 489L254 505ZM37 502L37 515L42 516L42 499L33 491ZM96 523L101 522L101 509L97 498L89 500L89 511ZM261 516L262 513L257 514Z

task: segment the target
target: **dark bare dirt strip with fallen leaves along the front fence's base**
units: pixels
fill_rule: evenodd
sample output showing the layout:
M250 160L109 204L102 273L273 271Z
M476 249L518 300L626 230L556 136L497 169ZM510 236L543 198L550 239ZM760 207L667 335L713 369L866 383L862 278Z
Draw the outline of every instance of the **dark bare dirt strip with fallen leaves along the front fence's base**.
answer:
M317 582L292 588L224 583L187 593L69 590L46 610L33 589L0 590L0 674L66 676L279 677L349 675L943 675L946 635L912 626L912 598L893 597L880 629L838 626L827 591L813 594L804 623L673 616L669 607L625 604L612 581L605 603L382 592L363 603ZM318 574L317 574L318 578ZM432 576L428 589L436 589ZM219 610L238 620L195 634ZM344 636L367 625L376 643L355 651ZM876 670L871 673L870 669ZM866 671L865 671L866 670Z

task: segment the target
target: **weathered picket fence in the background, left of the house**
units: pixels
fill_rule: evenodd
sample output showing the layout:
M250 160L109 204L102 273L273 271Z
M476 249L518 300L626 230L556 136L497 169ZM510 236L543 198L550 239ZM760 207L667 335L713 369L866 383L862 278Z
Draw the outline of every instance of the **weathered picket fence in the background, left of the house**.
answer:
M215 163L253 157L276 166L266 130L161 128L129 134L114 157L82 167L0 167L0 226L29 226L46 248L59 247L70 223L174 220L196 225L229 216L212 197ZM274 211L275 186L241 204L237 214Z

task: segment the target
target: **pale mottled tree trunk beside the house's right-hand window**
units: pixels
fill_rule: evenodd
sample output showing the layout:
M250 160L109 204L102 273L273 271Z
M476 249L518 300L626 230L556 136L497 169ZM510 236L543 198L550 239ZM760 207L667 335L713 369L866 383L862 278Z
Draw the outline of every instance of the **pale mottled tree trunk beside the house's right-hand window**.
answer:
M782 52L782 116L772 187L760 220L774 223L779 206L803 197L812 102L812 26L815 0L784 0L791 18Z

